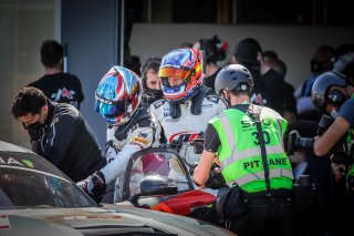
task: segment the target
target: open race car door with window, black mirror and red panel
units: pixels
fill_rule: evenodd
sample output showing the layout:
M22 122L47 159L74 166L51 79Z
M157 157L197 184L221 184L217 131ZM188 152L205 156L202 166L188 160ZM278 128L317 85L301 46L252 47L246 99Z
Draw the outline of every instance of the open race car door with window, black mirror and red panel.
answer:
M175 148L152 147L135 153L126 168L123 201L136 207L217 220L218 189L200 189L194 184L186 161Z

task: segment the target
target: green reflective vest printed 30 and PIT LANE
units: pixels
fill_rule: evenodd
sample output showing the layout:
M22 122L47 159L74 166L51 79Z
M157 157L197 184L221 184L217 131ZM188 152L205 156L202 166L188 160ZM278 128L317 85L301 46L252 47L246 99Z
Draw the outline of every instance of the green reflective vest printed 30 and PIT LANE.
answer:
M269 166L270 187L292 188L291 163L283 150L288 122L271 109L260 114ZM216 129L220 146L221 173L229 186L238 184L248 193L266 191L264 168L256 122L238 109L228 109L209 122Z

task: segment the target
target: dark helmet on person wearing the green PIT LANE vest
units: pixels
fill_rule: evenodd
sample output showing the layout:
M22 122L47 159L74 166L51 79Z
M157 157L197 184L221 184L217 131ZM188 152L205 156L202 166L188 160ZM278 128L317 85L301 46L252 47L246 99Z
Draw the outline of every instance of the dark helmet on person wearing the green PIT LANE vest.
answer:
M241 64L229 64L219 71L215 80L215 91L220 94L221 90L252 90L253 79L247 68Z

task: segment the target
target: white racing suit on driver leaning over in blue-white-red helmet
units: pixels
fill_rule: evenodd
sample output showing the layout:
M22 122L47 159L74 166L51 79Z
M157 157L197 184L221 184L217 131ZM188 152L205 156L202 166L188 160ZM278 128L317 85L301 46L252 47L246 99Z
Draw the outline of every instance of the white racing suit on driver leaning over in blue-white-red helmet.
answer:
M106 184L116 181L113 203L122 201L122 186L131 156L153 144L157 145L160 135L158 129L145 106L140 106L126 124L107 126L106 160L108 164L101 172ZM132 181L136 181L138 185L140 179Z

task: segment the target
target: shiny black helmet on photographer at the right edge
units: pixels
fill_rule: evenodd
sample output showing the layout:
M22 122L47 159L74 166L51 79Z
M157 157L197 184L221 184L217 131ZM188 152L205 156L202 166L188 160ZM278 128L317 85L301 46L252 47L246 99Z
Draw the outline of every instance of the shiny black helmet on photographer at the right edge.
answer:
M323 113L327 103L342 105L346 100L345 95L336 90L330 91L332 86L346 86L347 80L343 74L336 72L322 73L313 83L311 99L313 104Z

